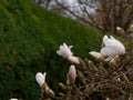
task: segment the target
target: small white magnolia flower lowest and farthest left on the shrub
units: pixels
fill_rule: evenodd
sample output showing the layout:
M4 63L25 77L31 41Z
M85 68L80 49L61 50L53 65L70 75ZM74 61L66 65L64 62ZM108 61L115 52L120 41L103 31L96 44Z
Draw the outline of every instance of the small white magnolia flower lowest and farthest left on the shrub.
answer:
M35 80L40 87L42 87L42 84L45 82L45 76L47 76L47 72L44 72L44 73L38 72L35 74Z

